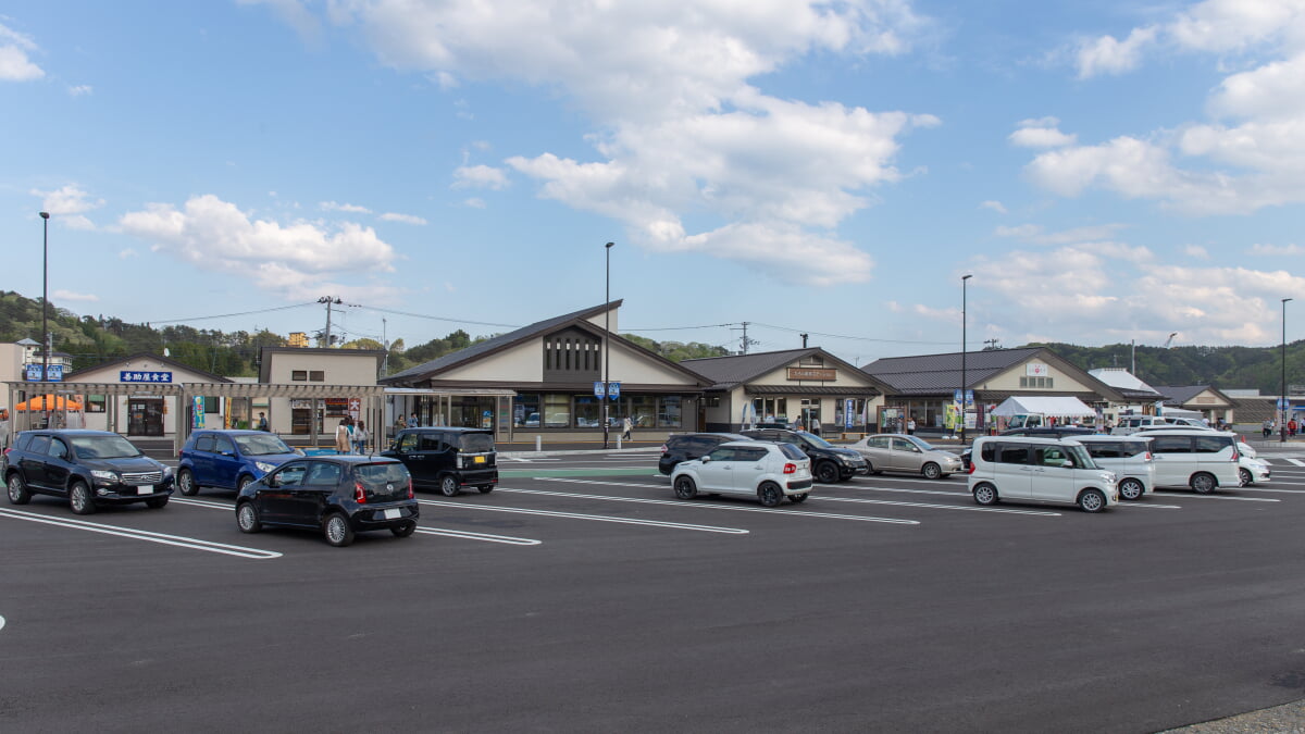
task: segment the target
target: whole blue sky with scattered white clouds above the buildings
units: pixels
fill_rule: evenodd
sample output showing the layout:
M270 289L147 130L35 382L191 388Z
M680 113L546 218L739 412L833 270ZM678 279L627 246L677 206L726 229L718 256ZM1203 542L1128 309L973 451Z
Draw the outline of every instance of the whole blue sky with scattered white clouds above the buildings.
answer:
M0 125L0 287L47 210L84 315L415 345L615 242L659 341L955 351L967 273L971 349L1305 332L1298 0L12 3Z

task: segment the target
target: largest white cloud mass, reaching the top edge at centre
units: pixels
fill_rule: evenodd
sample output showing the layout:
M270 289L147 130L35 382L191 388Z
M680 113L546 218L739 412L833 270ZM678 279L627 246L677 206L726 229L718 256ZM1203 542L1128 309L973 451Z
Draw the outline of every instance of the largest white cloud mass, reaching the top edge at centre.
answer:
M938 124L780 101L748 84L808 54L906 52L932 24L903 0L358 0L329 13L361 29L389 65L445 86L535 85L587 112L602 131L589 137L594 161L508 159L543 197L624 222L643 247L710 249L786 282L870 276L870 257L830 230L868 206L873 187L902 178L898 136ZM454 176L455 188L506 185L488 166ZM688 231L690 214L723 223Z

